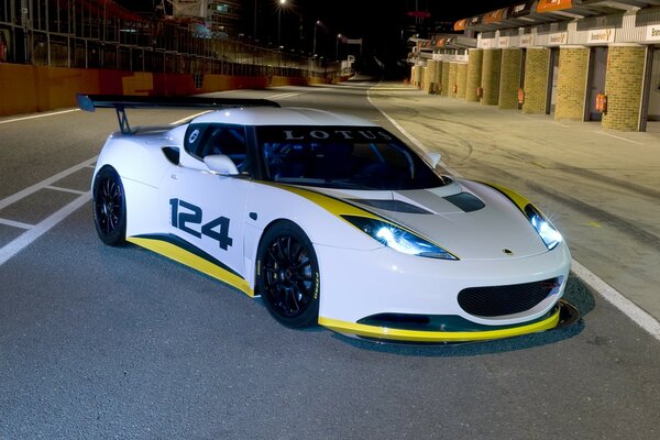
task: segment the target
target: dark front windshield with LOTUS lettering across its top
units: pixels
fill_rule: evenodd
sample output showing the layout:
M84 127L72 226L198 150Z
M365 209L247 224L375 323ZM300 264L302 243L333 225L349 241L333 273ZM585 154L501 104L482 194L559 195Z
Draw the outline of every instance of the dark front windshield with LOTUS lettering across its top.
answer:
M415 152L377 127L258 127L273 182L348 189L444 185Z

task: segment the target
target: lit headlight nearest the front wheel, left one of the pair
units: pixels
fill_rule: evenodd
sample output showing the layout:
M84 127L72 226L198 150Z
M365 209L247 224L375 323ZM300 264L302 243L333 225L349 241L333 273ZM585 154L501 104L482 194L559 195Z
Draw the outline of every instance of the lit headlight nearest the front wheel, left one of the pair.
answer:
M372 239L395 251L430 258L459 260L442 248L395 224L359 216L342 216L342 218Z

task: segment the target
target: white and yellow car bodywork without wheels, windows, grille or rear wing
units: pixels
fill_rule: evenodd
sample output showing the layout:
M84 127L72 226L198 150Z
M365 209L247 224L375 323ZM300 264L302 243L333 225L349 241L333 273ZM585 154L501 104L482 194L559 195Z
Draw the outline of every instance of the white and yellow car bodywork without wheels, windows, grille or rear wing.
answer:
M190 131L190 124L268 125L282 130L309 127L321 138L328 127L349 128L346 132L350 128L383 130L363 119L320 110L246 107L212 111L175 128L113 133L101 151L95 176L111 166L121 177L128 241L193 266L252 297L258 294L260 241L271 224L286 219L300 227L314 244L320 273L318 323L338 332L373 339L455 342L512 337L557 326L558 301L566 285L571 255L563 240L553 249L541 240L524 213L528 202L521 196L464 179L436 188L365 190L221 175L218 168L226 156L207 156L209 161L205 162L184 147L186 135L200 135ZM168 160L164 148L178 151L178 162ZM212 161L220 162L209 166ZM474 196L484 206L466 210L450 201L454 200L452 196L464 194L471 196L461 197L473 200ZM200 218L195 218L198 213ZM399 252L374 240L342 215L392 222L438 243L458 260ZM215 223L207 232L211 231L212 237L200 231L210 221ZM557 284L548 288L542 300L525 310L480 316L459 301L464 289L548 279L557 279Z

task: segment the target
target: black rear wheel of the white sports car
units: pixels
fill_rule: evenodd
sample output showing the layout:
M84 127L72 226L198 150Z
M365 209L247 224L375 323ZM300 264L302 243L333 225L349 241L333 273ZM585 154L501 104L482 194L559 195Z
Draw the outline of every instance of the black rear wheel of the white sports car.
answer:
M94 179L94 224L101 241L110 246L121 245L127 237L127 199L117 170L102 167Z

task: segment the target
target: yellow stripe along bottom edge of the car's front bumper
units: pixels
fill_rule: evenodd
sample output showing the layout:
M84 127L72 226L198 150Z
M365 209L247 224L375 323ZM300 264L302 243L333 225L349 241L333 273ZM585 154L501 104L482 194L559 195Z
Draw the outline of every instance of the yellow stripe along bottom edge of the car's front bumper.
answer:
M527 326L513 327L509 329L486 330L486 331L419 331L391 329L387 327L366 326L363 323L345 322L331 318L319 317L319 324L329 328L339 333L356 334L360 337L375 339L391 339L395 341L416 341L416 342L469 342L486 341L491 339L512 338L538 331L550 330L559 323L560 308L548 319L534 322Z

